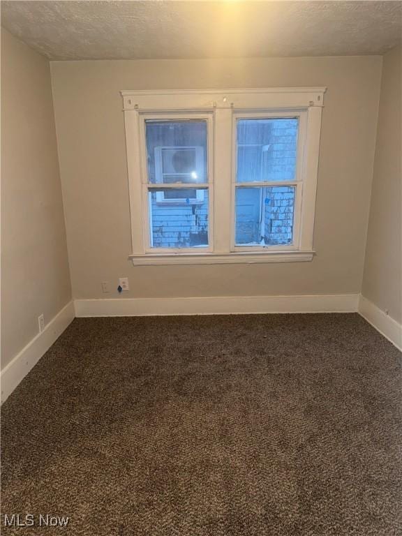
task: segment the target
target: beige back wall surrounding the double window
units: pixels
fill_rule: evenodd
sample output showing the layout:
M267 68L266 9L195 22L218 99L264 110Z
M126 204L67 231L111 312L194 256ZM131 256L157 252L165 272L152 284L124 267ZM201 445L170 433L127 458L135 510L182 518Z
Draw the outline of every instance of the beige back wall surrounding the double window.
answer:
M360 292L381 57L54 61L52 84L75 298ZM313 262L133 267L120 89L327 86ZM103 295L101 281L113 292Z

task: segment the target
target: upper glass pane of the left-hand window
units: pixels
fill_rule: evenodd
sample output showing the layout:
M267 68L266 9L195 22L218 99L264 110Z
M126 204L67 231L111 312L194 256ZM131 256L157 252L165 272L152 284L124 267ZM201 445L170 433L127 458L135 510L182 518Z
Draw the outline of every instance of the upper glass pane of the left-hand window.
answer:
M148 181L207 182L207 121L145 121Z

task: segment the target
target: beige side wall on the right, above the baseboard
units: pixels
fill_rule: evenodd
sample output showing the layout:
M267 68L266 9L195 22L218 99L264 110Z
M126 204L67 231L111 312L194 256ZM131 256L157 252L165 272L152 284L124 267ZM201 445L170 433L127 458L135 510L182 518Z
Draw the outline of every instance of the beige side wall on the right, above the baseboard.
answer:
M362 294L402 322L401 46L383 59Z

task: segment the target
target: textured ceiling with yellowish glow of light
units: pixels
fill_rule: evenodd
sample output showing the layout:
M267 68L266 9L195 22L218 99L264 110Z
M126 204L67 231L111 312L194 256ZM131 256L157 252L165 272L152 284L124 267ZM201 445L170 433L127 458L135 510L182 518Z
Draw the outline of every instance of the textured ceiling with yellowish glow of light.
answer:
M2 24L49 59L382 54L401 1L2 1Z

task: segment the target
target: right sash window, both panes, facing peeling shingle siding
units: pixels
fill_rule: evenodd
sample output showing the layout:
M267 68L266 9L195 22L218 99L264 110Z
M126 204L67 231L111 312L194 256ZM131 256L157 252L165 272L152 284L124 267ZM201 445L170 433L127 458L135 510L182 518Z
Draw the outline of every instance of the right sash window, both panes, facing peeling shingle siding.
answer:
M237 115L235 234L237 249L292 246L298 173L299 116ZM302 147L301 147L302 149Z

